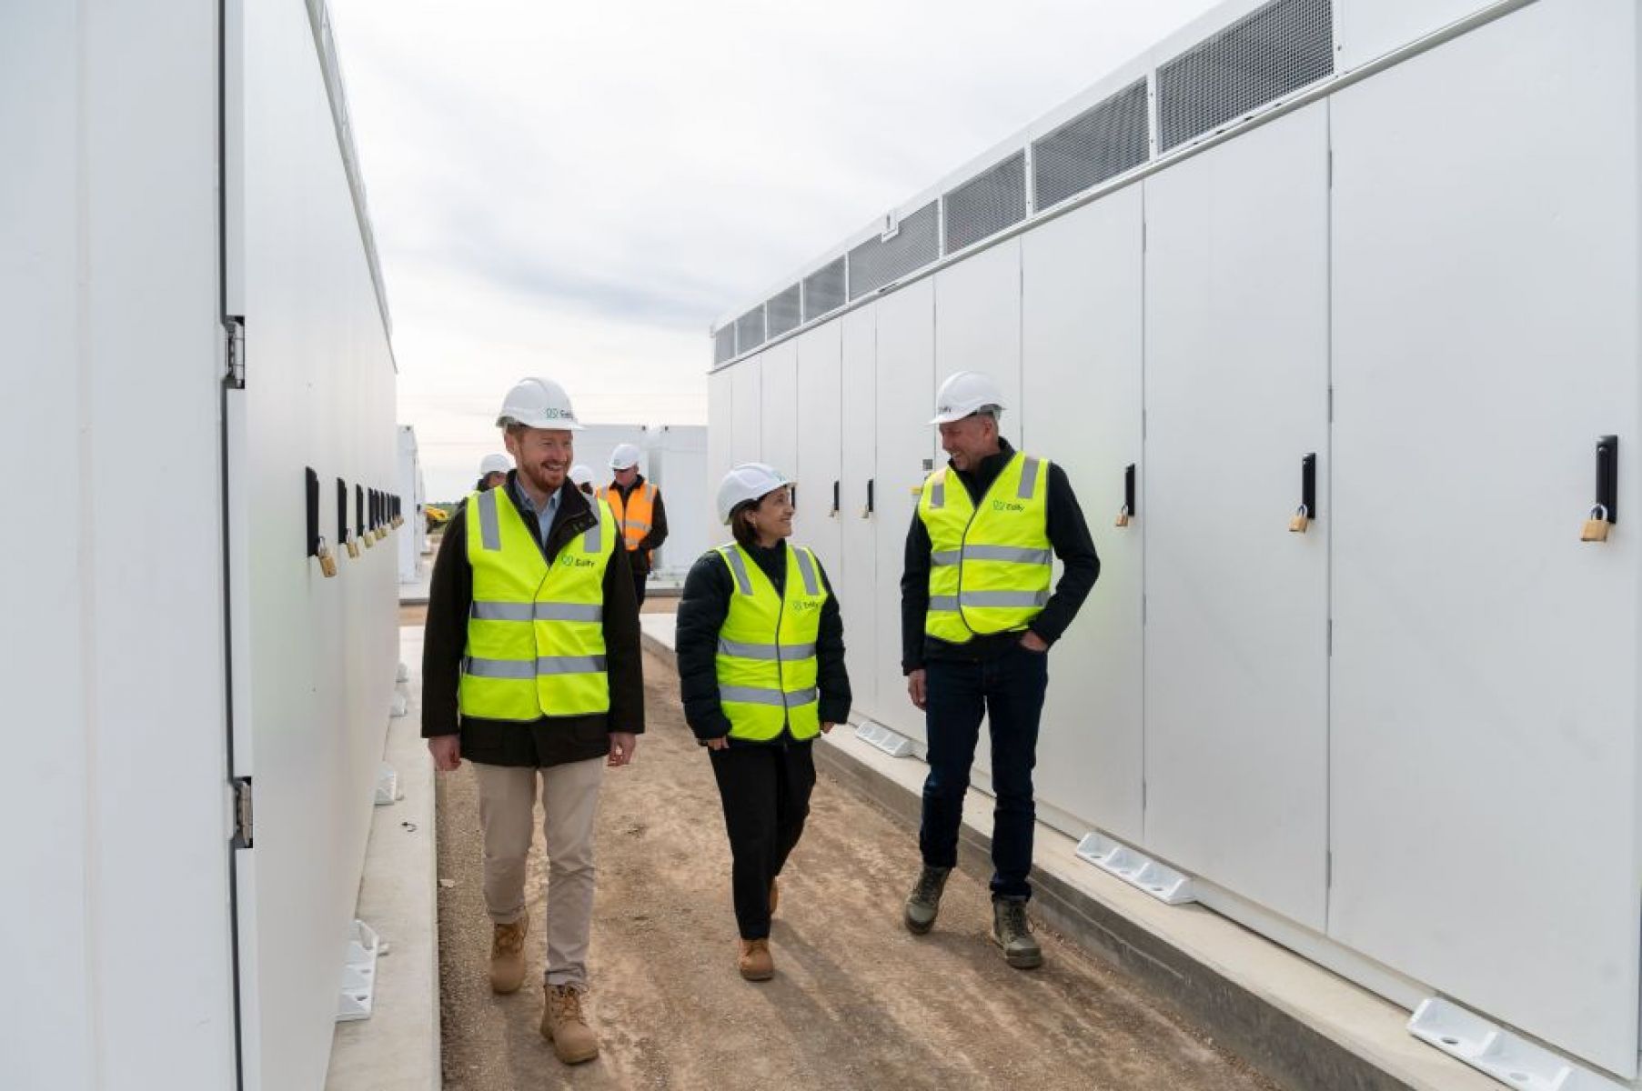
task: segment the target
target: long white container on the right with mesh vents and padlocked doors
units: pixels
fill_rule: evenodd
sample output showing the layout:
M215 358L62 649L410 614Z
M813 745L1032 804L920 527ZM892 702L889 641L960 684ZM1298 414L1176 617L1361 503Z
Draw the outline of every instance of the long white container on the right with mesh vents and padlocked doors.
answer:
M1632 0L1236 0L780 281L796 328L736 308L709 379L713 476L796 451L857 717L921 753L901 545L934 389L988 371L1103 561L1053 651L1041 815L1624 1081L1639 46Z

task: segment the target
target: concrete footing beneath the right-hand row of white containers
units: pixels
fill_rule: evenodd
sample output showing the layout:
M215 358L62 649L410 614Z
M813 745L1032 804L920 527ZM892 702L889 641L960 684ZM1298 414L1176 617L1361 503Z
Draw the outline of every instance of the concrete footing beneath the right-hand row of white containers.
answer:
M645 646L673 664L672 614L640 617ZM928 766L836 730L816 765L916 829ZM970 792L961 866L990 876L992 802ZM1494 1080L1406 1030L1409 1012L1202 906L1166 906L1076 855L1038 824L1033 912L1121 965L1204 1030L1289 1088L1498 1091Z

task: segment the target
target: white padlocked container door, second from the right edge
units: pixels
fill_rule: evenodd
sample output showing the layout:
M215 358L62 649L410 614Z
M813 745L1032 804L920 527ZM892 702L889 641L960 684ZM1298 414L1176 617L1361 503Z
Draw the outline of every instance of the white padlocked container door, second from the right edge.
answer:
M1146 182L1146 845L1312 929L1327 850L1328 115ZM1317 512L1292 532L1305 459Z

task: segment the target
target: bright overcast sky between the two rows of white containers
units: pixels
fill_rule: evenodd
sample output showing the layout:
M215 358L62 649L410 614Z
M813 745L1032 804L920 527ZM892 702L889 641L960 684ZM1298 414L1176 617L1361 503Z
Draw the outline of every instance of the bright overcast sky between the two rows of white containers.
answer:
M1210 0L328 0L430 499L506 389L706 423L708 326Z

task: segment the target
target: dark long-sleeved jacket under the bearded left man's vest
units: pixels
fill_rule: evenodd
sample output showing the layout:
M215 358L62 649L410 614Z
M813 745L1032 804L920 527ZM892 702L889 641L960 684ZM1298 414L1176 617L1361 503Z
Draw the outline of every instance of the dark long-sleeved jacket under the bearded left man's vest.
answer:
M509 499L524 510L516 472L507 474ZM458 509L460 510L460 509ZM539 535L534 515L524 520ZM558 510L547 540L537 540L548 564L568 541L593 525L588 497L568 481L558 491ZM644 732L644 660L639 650L639 602L634 599L627 551L617 548L604 568L604 663L609 712L544 715L534 724L486 720L458 712L456 684L468 648L468 610L473 605L473 566L468 564L468 527L452 515L433 559L427 625L422 643L422 737L461 733L461 756L484 765L537 766L586 761L609 753L611 732Z

